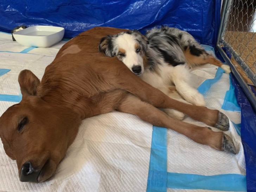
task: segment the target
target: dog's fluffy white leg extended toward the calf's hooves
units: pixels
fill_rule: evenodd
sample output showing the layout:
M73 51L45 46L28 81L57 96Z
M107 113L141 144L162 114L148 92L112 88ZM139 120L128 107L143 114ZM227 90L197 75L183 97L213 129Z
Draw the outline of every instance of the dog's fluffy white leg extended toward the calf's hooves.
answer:
M190 71L186 65L175 66L171 76L177 91L187 102L199 106L205 105L204 96L189 84Z

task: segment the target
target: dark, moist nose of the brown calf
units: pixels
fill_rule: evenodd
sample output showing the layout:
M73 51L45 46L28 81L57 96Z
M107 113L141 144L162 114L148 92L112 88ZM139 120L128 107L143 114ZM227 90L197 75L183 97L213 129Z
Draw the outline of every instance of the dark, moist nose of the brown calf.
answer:
M20 170L20 181L21 182L38 182L37 177L40 173L39 170L34 169L30 161L25 162L21 166Z

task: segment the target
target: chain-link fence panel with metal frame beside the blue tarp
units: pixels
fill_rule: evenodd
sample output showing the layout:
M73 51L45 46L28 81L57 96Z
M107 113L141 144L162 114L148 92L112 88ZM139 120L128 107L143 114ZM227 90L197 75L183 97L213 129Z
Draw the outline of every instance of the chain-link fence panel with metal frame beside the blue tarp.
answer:
M256 86L256 0L224 0L217 49L256 109L247 84ZM223 47L231 55L224 54Z

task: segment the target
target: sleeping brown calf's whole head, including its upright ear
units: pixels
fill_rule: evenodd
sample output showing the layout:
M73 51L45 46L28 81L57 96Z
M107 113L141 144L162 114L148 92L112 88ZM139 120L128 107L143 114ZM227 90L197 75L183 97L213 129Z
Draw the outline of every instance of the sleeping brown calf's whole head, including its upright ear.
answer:
M43 182L56 171L81 119L37 96L40 81L31 71L21 71L18 81L23 98L0 117L0 137L6 154L17 161L20 181Z

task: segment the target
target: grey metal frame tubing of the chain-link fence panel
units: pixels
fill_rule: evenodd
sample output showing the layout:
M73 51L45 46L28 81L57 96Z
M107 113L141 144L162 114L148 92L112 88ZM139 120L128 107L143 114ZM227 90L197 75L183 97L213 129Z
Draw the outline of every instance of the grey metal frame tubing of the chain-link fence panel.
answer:
M232 57L242 67L242 69L244 70L246 75L251 79L252 83L254 83L254 85L256 86L255 74L248 67L247 63L244 62L244 60L239 56L239 54L233 49L233 47L228 42L226 42L225 39L223 38L225 30L227 28L226 24L227 24L227 21L229 20L230 8L231 8L232 3L233 3L233 0L224 0L224 2L223 2L223 11L222 11L222 17L221 17L221 21L220 21L220 27L219 27L216 48L220 52L220 54L223 57L223 59L225 60L225 62L230 66L231 72L233 73L237 82L243 89L252 108L254 109L254 111L256 111L256 97L255 97L254 93L251 91L250 87L245 82L244 78L240 75L240 73L237 71L235 66L232 64L229 57L226 55L226 53L222 49L222 45L227 48L227 50L230 52Z

